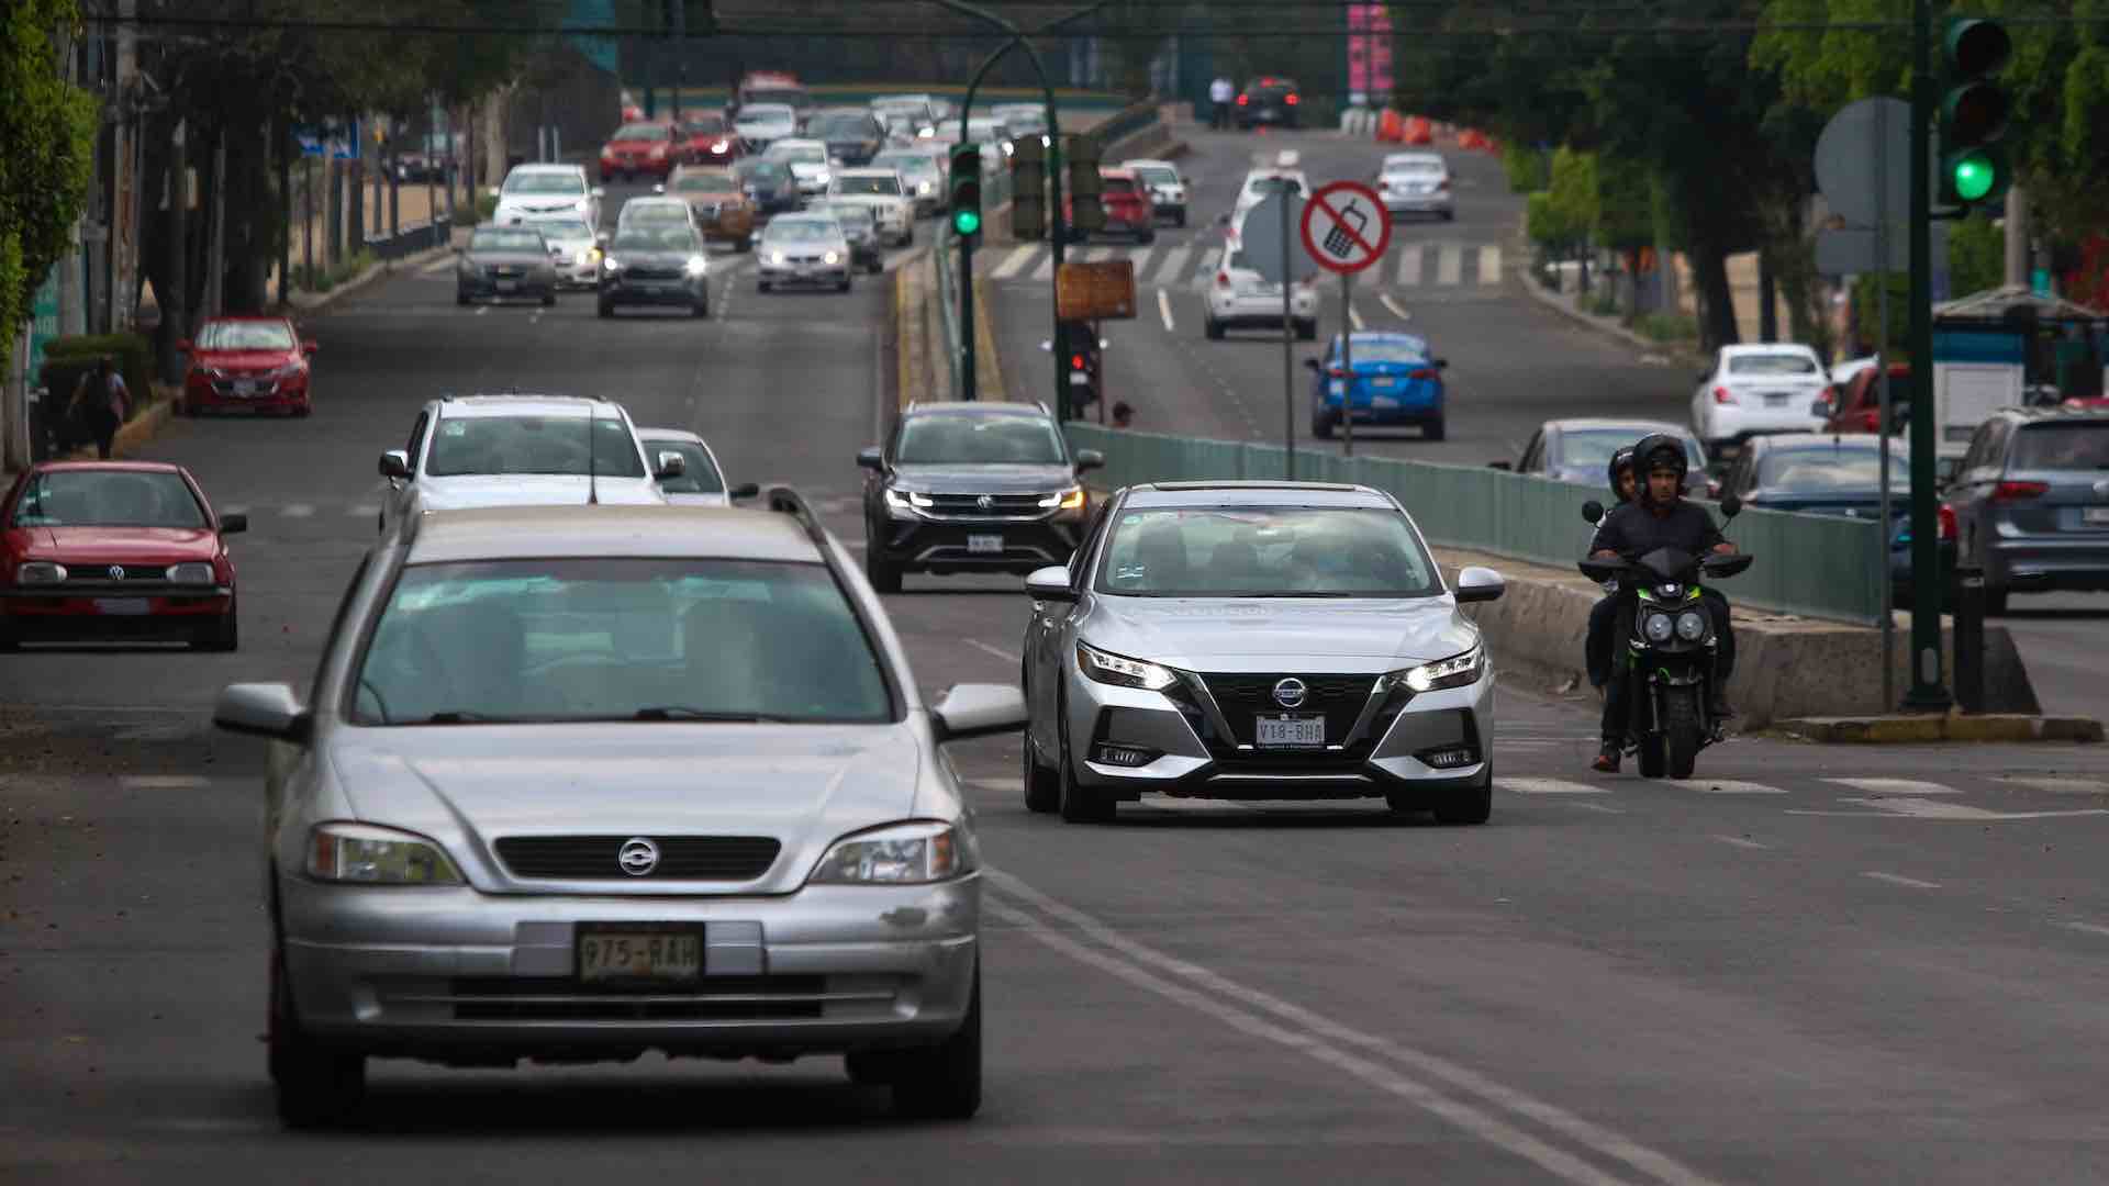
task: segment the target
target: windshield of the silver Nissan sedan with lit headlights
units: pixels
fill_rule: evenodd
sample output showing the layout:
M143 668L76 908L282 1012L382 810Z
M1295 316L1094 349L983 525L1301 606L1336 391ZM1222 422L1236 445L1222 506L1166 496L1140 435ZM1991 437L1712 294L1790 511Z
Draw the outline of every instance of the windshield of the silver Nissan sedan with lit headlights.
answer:
M1130 597L1428 597L1434 561L1396 511L1196 506L1126 511L1099 591Z

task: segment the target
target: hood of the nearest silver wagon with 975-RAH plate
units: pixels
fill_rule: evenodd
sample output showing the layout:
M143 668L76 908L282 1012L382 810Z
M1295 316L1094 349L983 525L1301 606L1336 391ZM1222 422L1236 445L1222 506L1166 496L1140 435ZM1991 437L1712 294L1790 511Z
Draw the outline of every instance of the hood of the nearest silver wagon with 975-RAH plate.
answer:
M504 891L504 836L770 836L774 865L719 893L795 891L829 844L909 819L920 753L907 726L588 722L363 728L331 770L359 819L439 840ZM595 893L666 893L599 882ZM694 884L694 882L690 882ZM683 888L683 893L694 893Z

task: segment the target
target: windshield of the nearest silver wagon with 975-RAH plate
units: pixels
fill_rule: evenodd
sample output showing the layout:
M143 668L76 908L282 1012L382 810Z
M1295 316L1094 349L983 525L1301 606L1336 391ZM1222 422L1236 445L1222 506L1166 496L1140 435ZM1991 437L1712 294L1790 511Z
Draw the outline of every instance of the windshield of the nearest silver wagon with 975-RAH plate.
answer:
M352 701L367 726L717 715L894 718L879 658L825 566L411 566L373 627Z

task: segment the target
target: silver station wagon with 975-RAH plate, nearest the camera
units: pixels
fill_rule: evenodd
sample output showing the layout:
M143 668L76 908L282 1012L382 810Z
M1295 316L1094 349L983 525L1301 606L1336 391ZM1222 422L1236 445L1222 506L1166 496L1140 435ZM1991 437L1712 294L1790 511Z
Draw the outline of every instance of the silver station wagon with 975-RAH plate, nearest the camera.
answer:
M848 1055L917 1116L981 1099L979 855L939 745L1017 688L924 705L856 561L772 511L418 515L346 591L272 739L280 1118L356 1112L369 1057L447 1066Z

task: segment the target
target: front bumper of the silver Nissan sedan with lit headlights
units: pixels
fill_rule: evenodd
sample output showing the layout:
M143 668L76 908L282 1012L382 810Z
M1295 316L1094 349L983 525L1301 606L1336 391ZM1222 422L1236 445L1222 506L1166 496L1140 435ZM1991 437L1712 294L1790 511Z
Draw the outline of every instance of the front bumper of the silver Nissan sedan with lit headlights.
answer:
M1493 772L1491 661L1474 684L1419 692L1402 707L1348 696L1324 711L1327 745L1308 749L1255 747L1255 724L1242 718L1261 713L1211 692L1221 675L1183 673L1166 692L1147 692L1084 677L1073 654L1063 669L1071 770L1078 783L1124 800L1143 791L1215 800L1436 798L1483 787ZM1373 686L1377 675L1305 680ZM1147 762L1114 762L1122 751ZM1445 751L1468 751L1472 760L1430 762Z

